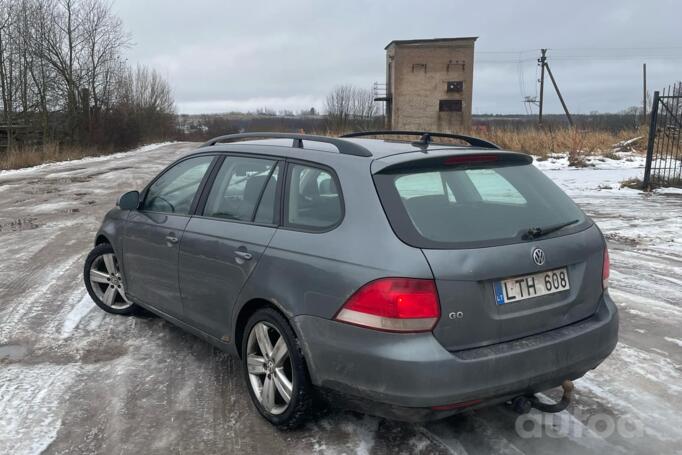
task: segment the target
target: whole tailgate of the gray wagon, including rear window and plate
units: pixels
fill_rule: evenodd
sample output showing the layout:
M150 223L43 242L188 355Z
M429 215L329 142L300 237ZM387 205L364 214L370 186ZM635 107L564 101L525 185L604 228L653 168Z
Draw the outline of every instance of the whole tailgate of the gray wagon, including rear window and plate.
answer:
M604 254L592 220L528 156L449 153L400 156L374 175L393 231L431 266L443 346L499 343L592 315Z

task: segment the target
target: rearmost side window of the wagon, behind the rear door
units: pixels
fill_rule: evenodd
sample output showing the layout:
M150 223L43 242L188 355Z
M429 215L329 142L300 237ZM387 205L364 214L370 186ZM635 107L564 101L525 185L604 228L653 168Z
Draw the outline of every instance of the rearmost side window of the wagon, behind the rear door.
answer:
M292 164L289 166L288 181L287 225L325 230L341 221L341 195L336 178L330 171Z

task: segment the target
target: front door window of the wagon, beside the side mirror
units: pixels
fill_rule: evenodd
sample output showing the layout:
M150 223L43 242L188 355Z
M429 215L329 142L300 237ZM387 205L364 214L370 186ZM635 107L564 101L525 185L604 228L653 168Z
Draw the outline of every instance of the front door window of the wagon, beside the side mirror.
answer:
M212 156L199 156L181 161L170 168L149 187L142 210L189 214L194 196L211 161Z

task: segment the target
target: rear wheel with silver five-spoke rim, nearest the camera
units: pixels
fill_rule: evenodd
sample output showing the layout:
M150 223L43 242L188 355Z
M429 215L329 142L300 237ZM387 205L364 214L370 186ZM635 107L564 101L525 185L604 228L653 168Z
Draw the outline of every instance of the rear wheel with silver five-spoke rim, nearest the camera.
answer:
M265 355L259 332L260 336L268 336L272 347ZM278 359L280 339L287 349L284 360ZM244 328L241 353L246 386L258 412L280 430L300 427L314 409L314 390L300 343L286 318L272 308L256 311ZM269 390L273 393L271 403L266 398L268 380L271 381ZM286 380L291 385L288 402L285 399L288 390ZM283 389L285 393L282 393Z

